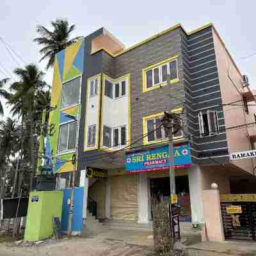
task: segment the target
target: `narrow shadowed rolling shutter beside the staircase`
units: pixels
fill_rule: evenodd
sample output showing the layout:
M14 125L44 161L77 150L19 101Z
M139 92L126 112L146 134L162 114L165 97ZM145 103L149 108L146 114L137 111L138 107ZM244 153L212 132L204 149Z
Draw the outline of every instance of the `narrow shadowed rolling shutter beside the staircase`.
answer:
M97 202L97 218L105 218L106 179L100 179L93 183L88 193Z

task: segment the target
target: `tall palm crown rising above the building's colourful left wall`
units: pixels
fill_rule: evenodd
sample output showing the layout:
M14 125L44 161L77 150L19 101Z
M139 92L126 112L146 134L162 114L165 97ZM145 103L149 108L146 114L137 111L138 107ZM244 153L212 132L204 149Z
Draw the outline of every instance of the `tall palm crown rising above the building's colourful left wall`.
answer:
M44 26L37 26L36 32L40 34L40 37L34 39L34 42L43 45L43 48L40 50L40 53L43 55L40 61L45 58L48 59L46 70L54 65L57 52L60 52L83 38L83 36L78 36L70 39L70 34L74 31L76 26L69 26L68 21L65 19L57 18L55 21L51 22L51 25L53 28L52 31Z

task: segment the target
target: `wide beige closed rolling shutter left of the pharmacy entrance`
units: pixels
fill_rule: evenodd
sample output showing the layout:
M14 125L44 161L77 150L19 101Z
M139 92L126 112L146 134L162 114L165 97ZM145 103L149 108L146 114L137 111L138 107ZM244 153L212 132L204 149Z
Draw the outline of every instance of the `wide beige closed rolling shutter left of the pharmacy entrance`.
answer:
M110 212L113 220L138 220L138 175L118 175L111 180Z

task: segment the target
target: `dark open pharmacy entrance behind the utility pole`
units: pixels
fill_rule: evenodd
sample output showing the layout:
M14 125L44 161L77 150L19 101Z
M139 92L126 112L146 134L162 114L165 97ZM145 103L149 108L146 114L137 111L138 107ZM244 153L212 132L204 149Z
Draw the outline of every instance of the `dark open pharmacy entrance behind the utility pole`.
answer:
M188 175L176 176L175 186L180 205L180 221L191 221ZM170 202L170 178L150 179L150 196L163 196L166 202Z

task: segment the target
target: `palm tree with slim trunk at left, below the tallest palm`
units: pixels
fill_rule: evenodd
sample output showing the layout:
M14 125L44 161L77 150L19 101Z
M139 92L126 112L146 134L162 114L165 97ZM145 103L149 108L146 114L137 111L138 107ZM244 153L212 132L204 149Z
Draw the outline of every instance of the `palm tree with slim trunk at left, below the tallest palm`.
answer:
M42 92L44 92L47 84L43 80L44 72L40 71L34 64L27 65L24 68L16 68L14 74L19 77L19 81L10 86L10 90L14 90L15 93L9 97L9 103L13 104L12 112L20 113L22 116L22 129L25 122L26 131L28 131L30 138L30 166L31 171L35 173L36 131L34 124L36 121L36 101L38 100L38 95L42 95Z

